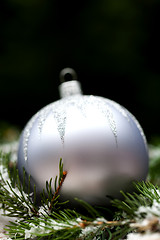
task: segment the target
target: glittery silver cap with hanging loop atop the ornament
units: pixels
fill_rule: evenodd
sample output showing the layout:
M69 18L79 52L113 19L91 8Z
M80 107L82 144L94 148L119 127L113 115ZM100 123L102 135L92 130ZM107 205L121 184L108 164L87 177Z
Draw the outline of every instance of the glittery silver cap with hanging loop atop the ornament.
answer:
M61 98L69 97L72 95L81 95L81 84L77 81L77 73L72 68L64 68L60 72L59 94Z

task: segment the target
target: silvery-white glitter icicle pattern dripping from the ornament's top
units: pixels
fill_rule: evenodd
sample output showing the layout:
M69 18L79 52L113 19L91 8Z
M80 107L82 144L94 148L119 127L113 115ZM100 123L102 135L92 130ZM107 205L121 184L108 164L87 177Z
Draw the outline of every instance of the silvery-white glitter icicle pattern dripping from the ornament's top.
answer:
M41 135L44 123L47 119L47 116L50 113L53 113L54 119L57 124L57 130L59 132L62 144L64 144L64 138L65 138L65 128L66 128L66 119L67 119L67 110L70 107L74 107L75 109L78 109L83 117L87 118L87 107L95 107L98 109L98 111L108 120L108 124L110 126L110 129L114 135L115 142L117 145L117 128L116 123L113 117L113 113L111 111L111 108L108 106L106 101L104 101L104 98L101 97L94 97L94 96L71 96L65 99L61 99L57 102L51 103L47 105L46 107L42 108L36 115L32 117L32 119L27 124L25 130L24 130L24 159L27 161L28 159L28 142L29 137L31 133L31 129L33 127L33 124L35 120L38 121L38 130L39 134Z

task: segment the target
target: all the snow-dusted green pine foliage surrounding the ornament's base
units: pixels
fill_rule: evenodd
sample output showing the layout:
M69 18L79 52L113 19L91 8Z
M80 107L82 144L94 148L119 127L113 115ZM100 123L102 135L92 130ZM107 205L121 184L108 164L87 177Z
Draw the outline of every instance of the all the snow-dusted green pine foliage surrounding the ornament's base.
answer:
M46 182L41 203L37 204L36 187L30 193L30 178L29 184L25 178L21 183L12 152L1 152L0 208L4 216L13 219L5 233L8 239L132 240L145 236L160 239L160 187L153 174L156 169L158 175L158 166L159 161L151 156L148 181L133 183L133 193L121 192L123 200L111 200L106 209L75 199L77 206L84 209L79 212L79 207L70 209L67 202L59 200L59 190L67 176L62 159L59 176ZM112 214L106 214L111 207Z

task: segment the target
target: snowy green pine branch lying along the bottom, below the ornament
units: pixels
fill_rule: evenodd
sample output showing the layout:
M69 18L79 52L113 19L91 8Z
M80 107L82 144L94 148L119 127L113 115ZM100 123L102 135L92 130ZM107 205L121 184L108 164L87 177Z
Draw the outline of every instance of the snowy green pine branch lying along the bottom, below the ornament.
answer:
M93 239L95 236L107 232L112 235L110 227L117 226L117 221L106 221L104 218L96 218L94 221L87 221L77 213L65 209L59 213L52 213L50 216L28 219L27 221L18 221L9 226L9 233L16 239L27 239L39 237L48 239Z

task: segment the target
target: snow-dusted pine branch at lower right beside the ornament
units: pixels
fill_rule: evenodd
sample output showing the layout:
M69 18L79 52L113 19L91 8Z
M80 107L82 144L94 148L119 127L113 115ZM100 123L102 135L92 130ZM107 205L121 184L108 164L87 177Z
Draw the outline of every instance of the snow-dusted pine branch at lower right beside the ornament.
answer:
M127 239L133 235L135 235L135 239L136 237L140 239L145 234L149 234L151 237L155 232L158 236L157 239L160 239L160 187L154 186L150 182L139 182L134 185L136 192L133 194L121 192L124 200L112 201L113 206L119 210L115 216L117 219L123 218L124 228L127 225L129 227L128 233L136 232L128 234ZM122 230L123 227L120 232Z

